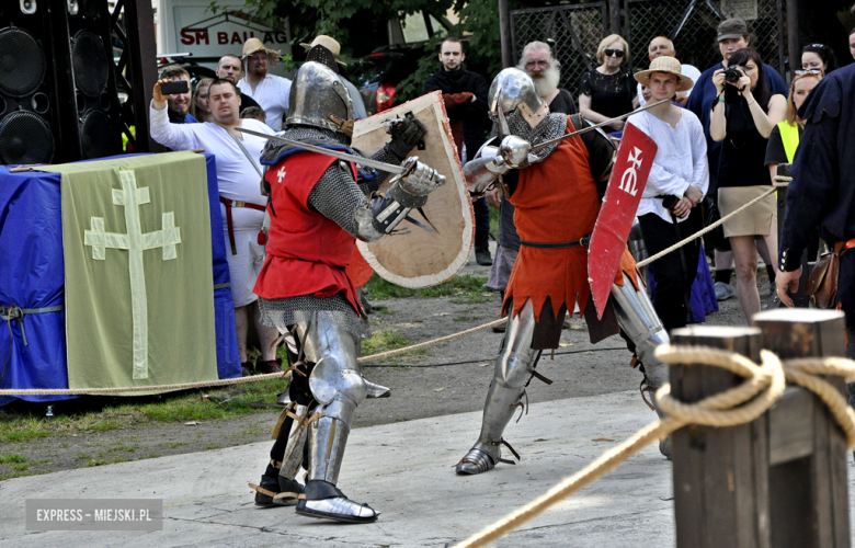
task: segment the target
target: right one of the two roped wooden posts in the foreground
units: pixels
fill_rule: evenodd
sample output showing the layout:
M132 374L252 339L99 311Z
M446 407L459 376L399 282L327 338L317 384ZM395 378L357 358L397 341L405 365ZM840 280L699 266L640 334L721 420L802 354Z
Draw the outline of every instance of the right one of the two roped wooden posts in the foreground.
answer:
M782 359L845 355L843 312L770 310L753 323ZM827 380L845 395L842 378ZM767 415L772 545L848 547L846 438L836 421L800 387L788 387Z

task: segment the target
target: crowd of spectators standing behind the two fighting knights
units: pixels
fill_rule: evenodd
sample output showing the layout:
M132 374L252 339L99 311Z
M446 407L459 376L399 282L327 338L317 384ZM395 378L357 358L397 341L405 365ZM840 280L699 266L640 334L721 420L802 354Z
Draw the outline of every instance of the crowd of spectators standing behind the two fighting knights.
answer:
M581 116L592 123L608 122L651 101L670 100L605 127L617 144L625 124L632 123L659 147L637 217L646 248L652 254L670 247L681 235L699 230L709 220L706 212L718 210L725 216L771 187L777 165L795 159L805 130L799 109L823 77L839 67L830 47L809 44L801 54L801 68L794 71L787 87L784 78L763 62L752 42L743 21L722 21L717 33L721 61L702 72L679 61L671 39L657 36L648 45L649 69L639 67L632 73L628 68L629 45L613 34L598 44L597 66L582 75L575 98L559 87L561 67L549 44L525 45L517 68L532 77L550 112ZM339 59L340 45L333 38L321 35L303 46L318 44L330 49L345 69ZM855 58L855 31L850 34L850 46ZM248 324L255 322L263 343L272 342L276 333L254 321L258 307L253 307L251 293L264 253L263 242L256 237L264 207L258 184L263 139L235 128L246 125L272 134L283 127L290 81L269 73L278 58L278 52L249 39L241 56L226 55L219 60L216 79L202 79L195 89L164 98L159 92L161 83L191 81L183 68L166 67L151 106L155 140L173 149L205 148L218 156L223 229L231 249L229 266L244 374L252 369L246 351ZM489 79L466 69L465 59L464 43L446 38L441 44L440 67L424 84L424 92L442 91L454 141L464 160L474 157L492 129L487 115ZM365 117L358 91L342 78L354 99L356 119ZM494 258L488 248L488 205L500 210ZM520 249L513 205L495 189L475 203L475 212L477 262L492 264L488 287L502 293ZM713 287L706 255L714 265L715 299L737 296L746 320L761 308L757 254L765 263L772 293L777 295L776 217L775 197L770 195L726 221L726 238L708 246L710 249L705 250L696 240L652 264L653 302L668 330L703 319L704 310L696 309L696 293L706 284ZM811 241L808 249L816 255L819 238ZM256 370L276 370L275 355L270 351L262 354Z

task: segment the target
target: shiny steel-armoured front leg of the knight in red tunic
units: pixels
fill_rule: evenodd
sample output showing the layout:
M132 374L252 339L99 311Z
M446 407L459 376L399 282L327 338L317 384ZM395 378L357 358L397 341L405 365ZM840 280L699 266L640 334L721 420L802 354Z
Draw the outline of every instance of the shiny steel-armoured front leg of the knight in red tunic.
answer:
M306 499L297 504L297 513L341 522L373 522L379 512L349 500L335 488L354 411L368 395L356 362L357 341L347 331L324 320L298 323L297 334L304 342L306 359L315 363L309 388L318 401L307 429ZM303 445L289 444L289 447L301 452ZM286 461L293 460L288 460L286 453Z

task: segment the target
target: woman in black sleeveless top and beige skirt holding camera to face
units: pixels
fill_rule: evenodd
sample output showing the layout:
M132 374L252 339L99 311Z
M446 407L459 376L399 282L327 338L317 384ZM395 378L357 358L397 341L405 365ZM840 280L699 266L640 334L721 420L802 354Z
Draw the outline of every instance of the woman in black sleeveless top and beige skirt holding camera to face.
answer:
M718 205L721 216L738 209L768 191L770 172L764 165L772 128L784 119L787 102L772 94L763 73L760 54L752 48L730 56L726 69L716 70L713 83L718 92L713 104L709 135L721 142L718 170ZM777 256L777 209L775 196L725 221L737 265L737 296L748 321L760 311L757 292L756 236L762 236L771 256Z

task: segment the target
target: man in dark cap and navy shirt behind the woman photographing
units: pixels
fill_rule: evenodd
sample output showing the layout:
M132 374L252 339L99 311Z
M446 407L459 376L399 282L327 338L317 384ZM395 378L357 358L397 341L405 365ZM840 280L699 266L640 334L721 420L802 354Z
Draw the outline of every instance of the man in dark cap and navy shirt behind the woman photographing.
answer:
M748 25L741 19L728 19L718 25L718 49L721 53L721 62L705 70L700 78L695 82L692 95L688 98L686 109L694 112L700 124L704 126L704 135L707 138L707 158L709 159L709 192L707 199L716 204L718 196L718 168L721 155L721 142L713 140L709 136L709 118L713 113L713 106L718 96L718 90L713 82L713 76L717 70L727 68L730 56L738 50L748 47L752 43ZM766 89L771 94L779 93L787 96L787 84L780 75L771 66L763 64L763 77L766 81ZM770 258L768 249L763 242L757 246L763 261L766 263L766 273L770 282L775 279L774 260ZM709 246L707 249L713 249ZM736 296L737 292L730 283L731 271L733 269L733 254L728 248L717 249L715 251L716 263L716 298L726 300ZM774 284L772 284L774 287Z

